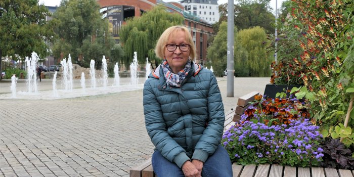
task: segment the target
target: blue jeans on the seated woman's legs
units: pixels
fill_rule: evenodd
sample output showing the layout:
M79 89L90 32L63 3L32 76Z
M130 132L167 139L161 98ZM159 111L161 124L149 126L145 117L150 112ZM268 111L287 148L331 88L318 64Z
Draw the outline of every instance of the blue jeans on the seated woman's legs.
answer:
M163 157L160 151L152 154L152 167L158 177L184 177L184 173L175 163ZM203 177L232 177L231 160L228 152L221 145L218 145L214 154L205 161L202 169Z

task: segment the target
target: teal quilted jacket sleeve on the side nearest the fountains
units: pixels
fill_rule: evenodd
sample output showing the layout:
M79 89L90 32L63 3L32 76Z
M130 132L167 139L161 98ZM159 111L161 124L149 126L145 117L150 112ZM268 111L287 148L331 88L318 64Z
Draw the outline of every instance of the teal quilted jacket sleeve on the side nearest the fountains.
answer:
M161 106L149 84L149 79L145 82L143 95L145 126L151 142L166 159L181 168L190 159L186 151L168 135Z

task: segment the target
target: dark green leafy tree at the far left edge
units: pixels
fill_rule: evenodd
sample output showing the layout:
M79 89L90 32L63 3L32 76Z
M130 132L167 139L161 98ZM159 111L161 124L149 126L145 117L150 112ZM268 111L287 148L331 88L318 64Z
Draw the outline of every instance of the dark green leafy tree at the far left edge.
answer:
M0 1L0 73L2 56L24 60L32 52L48 55L46 40L54 35L46 16L48 9L36 0ZM1 80L1 77L0 77Z

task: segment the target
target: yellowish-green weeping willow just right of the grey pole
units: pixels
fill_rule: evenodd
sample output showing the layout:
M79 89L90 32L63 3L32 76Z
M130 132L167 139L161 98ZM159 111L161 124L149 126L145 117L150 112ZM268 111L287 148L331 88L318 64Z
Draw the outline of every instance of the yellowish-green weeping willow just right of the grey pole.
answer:
M237 40L247 51L247 67L249 76L266 77L271 74L272 54L267 53L269 40L265 30L259 26L238 32Z

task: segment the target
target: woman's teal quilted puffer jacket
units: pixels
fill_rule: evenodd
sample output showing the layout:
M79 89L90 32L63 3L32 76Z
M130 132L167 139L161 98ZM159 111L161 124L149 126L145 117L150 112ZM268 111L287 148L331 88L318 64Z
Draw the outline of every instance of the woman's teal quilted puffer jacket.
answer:
M181 87L166 84L157 67L144 84L145 124L155 150L180 168L187 160L203 162L223 135L224 105L216 78L192 62Z

